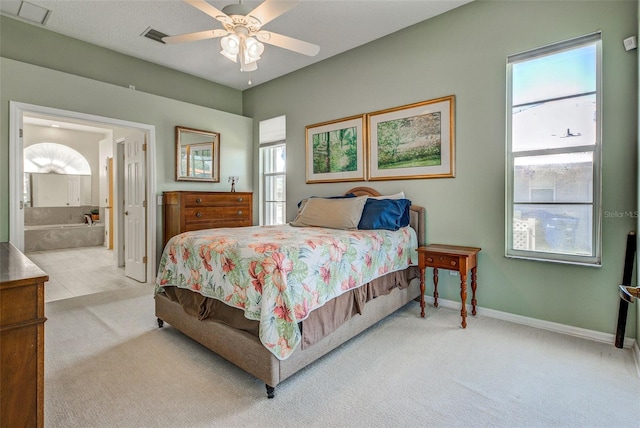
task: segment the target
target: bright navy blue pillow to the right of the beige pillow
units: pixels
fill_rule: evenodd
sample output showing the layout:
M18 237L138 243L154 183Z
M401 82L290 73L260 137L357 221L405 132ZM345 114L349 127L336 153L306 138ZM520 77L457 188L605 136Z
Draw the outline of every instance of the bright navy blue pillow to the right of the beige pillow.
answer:
M358 229L398 230L409 225L409 199L367 199Z

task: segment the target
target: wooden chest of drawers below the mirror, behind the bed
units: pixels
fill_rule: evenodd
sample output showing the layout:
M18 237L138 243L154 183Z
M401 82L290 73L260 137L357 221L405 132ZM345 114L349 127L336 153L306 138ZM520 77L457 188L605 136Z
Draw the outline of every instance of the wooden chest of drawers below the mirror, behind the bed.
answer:
M164 192L163 245L193 230L253 225L251 192Z

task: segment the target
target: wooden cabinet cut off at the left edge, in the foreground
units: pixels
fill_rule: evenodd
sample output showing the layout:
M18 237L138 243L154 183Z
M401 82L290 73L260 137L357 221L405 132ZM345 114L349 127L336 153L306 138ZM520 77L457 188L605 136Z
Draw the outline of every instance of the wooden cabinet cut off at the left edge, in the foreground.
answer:
M0 243L0 426L44 426L44 283L49 277Z

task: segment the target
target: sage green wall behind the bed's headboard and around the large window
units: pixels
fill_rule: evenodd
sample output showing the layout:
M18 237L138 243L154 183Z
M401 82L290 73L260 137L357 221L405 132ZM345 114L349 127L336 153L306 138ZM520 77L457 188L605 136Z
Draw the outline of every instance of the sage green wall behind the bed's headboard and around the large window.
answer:
M254 119L254 139L260 120L287 117L289 219L296 203L308 195L337 194L361 185L383 193L404 190L413 203L426 207L427 242L482 248L479 306L614 334L617 285L635 218L603 219L601 268L504 257L506 58L602 30L603 209L633 212L637 51L625 52L622 41L637 34L637 7L635 0L476 0L246 90L243 111ZM456 96L455 178L305 184L306 125L446 95ZM254 149L255 168L257 160ZM440 275L440 297L458 301L458 281ZM634 306L629 319L635 319ZM635 330L635 322L629 322L627 336L634 337Z

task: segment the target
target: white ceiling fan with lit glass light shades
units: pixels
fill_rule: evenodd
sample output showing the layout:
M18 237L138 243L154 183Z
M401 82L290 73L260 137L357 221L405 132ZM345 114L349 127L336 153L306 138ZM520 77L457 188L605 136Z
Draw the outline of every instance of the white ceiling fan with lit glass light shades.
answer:
M263 30L262 27L298 5L300 0L265 0L249 10L246 5L231 4L219 10L205 0L184 0L191 6L220 21L224 29L163 37L165 43L183 43L221 37L220 52L233 62L240 62L240 71L258 69L258 60L267 43L308 56L315 56L320 47L302 40Z

